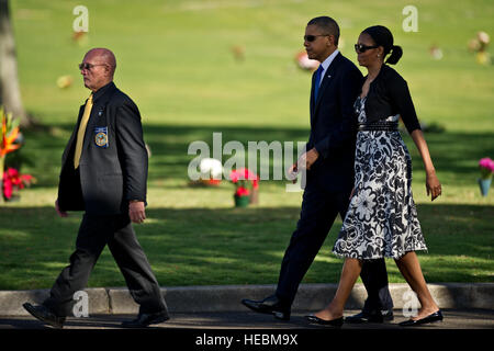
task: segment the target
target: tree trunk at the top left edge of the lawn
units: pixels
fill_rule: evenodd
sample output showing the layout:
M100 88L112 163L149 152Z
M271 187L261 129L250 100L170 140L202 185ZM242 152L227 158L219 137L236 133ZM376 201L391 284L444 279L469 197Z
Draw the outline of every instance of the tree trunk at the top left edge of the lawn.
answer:
M21 126L31 125L22 105L18 78L15 41L10 22L9 0L0 0L0 104L14 118L21 118Z

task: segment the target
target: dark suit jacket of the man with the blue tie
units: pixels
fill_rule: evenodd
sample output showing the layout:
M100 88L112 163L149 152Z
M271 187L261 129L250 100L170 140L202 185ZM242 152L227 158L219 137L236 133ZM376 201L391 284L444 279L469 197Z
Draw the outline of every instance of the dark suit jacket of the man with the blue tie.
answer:
M353 103L362 86L360 70L340 53L329 65L314 101L315 73L311 90L311 136L319 157L307 171L307 186L349 191L353 184L357 115Z

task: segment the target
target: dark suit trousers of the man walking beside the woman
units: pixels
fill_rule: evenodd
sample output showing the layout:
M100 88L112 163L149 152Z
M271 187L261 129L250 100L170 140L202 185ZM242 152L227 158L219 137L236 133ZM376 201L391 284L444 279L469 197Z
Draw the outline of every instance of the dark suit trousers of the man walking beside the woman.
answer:
M345 218L350 191L327 192L308 184L302 200L300 219L281 263L277 296L291 306L299 285L326 239L336 216ZM360 273L368 293L364 310L392 309L384 259L363 261Z

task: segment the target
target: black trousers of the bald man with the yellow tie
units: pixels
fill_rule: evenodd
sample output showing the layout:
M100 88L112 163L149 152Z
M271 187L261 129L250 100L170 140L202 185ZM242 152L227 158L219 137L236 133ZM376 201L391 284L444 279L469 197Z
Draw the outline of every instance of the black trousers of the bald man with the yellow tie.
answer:
M70 264L58 275L49 297L43 304L58 316L70 315L74 294L87 286L89 275L106 245L132 297L139 305L139 313L167 312L159 284L137 241L128 215L83 215Z

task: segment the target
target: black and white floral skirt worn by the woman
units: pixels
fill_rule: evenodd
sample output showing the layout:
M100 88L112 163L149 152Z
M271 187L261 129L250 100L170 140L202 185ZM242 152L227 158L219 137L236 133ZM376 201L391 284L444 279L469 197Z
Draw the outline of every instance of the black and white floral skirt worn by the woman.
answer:
M364 99L358 103L364 122ZM355 193L333 252L369 260L427 250L412 195L412 159L400 132L358 132L355 173Z

